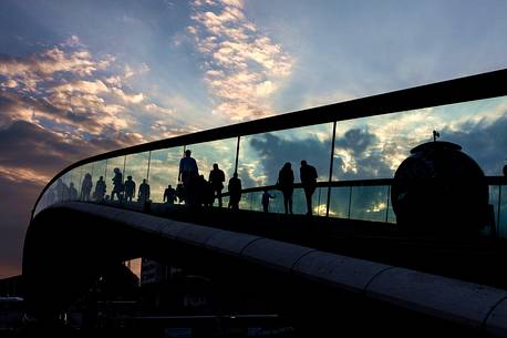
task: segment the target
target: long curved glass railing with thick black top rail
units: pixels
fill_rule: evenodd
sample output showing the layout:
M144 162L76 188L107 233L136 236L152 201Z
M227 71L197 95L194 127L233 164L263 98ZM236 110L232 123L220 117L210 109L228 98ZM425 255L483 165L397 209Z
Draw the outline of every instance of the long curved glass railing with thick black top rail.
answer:
M503 148L501 140L492 133L490 140L482 140L487 143L484 148L475 136L487 137L486 132L507 123L507 88L501 85L506 80L507 70L501 70L101 154L58 174L44 187L32 216L64 201L164 203L166 188L177 188L184 152L192 150L205 180L215 163L224 171L224 192L238 173L244 188L240 209L263 212L261 194L267 187L273 196L269 212L284 213L283 197L275 188L279 171L291 163L299 182L299 164L306 160L318 173L314 216L395 224L391 178L410 150L430 141L435 129L443 140L461 144L486 175L499 174L505 154L495 153ZM501 177L488 180L493 233L506 237L507 191ZM306 214L300 185L292 199L293 213ZM228 203L226 195L224 207Z

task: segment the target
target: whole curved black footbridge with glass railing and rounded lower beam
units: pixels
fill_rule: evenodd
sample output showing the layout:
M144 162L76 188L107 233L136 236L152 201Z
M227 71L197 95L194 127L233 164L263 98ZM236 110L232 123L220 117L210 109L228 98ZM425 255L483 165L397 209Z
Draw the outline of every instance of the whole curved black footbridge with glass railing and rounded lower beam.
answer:
M111 266L149 257L211 276L231 291L262 293L272 308L302 326L319 322L329 329L339 322L358 332L405 335L403 322L421 336L436 330L507 336L505 177L485 177L490 214L478 231L467 231L463 219L446 231L425 229L396 217L394 168L382 177L372 165L371 177L352 177L356 168L344 170L346 154L340 153L352 146L344 145L348 136L364 136L356 123L389 126L413 114L453 119L456 111L479 115L484 106L505 107L506 80L507 70L500 70L74 163L48 183L34 205L23 252L27 300L41 317L58 314ZM405 144L405 155L415 145ZM223 207L164 203L186 150L206 174L218 163L227 177L239 175L239 209L227 207L228 193ZM283 197L273 185L283 163L300 160L319 173L312 216L304 215L301 184L294 185L294 215L283 213ZM146 180L151 196L114 198L115 170L123 182ZM83 191L87 175L94 186L103 177L104 195ZM263 191L275 195L269 213L260 204Z

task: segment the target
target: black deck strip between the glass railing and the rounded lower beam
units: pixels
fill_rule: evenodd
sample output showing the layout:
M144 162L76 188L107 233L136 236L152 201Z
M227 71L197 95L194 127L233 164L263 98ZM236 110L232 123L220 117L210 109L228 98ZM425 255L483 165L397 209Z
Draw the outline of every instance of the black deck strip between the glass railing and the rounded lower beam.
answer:
M137 209L137 204L117 207ZM501 238L416 233L395 224L226 208L153 204L148 212L175 221L247 233L340 255L507 288Z

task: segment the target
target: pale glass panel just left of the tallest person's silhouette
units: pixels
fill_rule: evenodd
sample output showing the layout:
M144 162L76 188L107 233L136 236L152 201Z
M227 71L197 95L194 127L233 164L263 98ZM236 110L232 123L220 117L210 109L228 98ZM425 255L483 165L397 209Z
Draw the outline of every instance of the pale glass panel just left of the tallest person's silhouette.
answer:
M178 184L179 160L183 146L152 152L149 160L149 186L152 201L162 203L168 185L176 190Z

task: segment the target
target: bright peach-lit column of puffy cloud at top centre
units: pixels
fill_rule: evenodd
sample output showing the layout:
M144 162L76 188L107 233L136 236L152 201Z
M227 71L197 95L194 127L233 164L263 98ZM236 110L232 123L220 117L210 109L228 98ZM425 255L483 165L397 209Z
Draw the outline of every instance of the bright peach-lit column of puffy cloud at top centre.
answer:
M244 2L196 0L187 31L205 58L205 81L218 98L214 113L249 120L272 113L269 99L294 60L244 13Z

